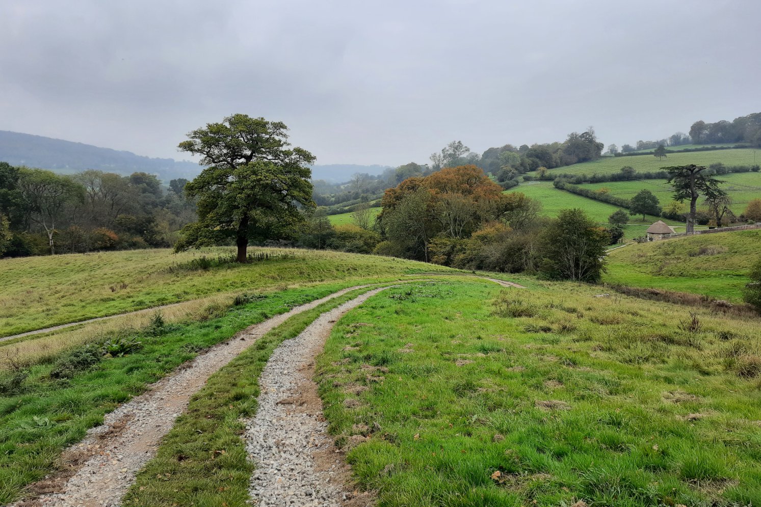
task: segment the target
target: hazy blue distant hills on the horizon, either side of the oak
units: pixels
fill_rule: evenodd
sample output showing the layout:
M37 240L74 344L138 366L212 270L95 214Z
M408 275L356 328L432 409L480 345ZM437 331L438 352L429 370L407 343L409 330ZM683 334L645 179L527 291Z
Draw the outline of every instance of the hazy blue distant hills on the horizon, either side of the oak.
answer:
M142 171L158 174L164 182L183 177L193 179L201 166L193 161L176 161L173 158L150 158L130 151L98 148L81 142L64 141L50 137L33 136L20 132L0 130L0 161L11 165L40 167L61 173L75 173L85 169L99 169L118 174ZM334 183L348 181L352 174L381 174L387 166L330 164L312 167L315 180Z

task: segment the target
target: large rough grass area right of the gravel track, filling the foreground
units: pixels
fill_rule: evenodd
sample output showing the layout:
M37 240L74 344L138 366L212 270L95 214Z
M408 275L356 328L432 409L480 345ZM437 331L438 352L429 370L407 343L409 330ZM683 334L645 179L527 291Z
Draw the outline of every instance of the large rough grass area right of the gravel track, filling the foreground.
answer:
M390 289L342 319L320 394L379 505L761 502L759 321L596 292Z

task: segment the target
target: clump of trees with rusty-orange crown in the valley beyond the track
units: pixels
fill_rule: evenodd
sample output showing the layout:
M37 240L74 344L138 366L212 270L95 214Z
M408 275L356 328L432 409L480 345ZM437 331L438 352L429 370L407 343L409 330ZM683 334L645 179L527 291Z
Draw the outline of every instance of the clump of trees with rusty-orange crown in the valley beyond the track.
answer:
M384 194L374 253L460 269L600 278L616 228L600 228L581 210L542 218L540 202L501 190L473 165L409 178Z

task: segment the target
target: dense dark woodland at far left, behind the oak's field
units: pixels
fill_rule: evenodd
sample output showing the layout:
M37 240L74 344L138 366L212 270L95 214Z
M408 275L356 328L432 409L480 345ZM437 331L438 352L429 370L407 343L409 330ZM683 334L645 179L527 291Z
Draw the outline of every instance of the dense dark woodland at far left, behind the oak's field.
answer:
M72 175L0 162L0 255L170 247L196 205L171 180L88 170Z

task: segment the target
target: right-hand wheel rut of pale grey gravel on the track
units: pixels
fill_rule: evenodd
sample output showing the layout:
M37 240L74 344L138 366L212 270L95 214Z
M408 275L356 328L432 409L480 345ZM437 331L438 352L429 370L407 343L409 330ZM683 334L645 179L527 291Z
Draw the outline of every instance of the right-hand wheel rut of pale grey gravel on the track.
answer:
M256 416L246 422L247 450L256 462L250 486L256 505L333 507L357 500L343 483L345 464L327 435L310 371L336 320L384 289L322 314L272 352L260 377Z

